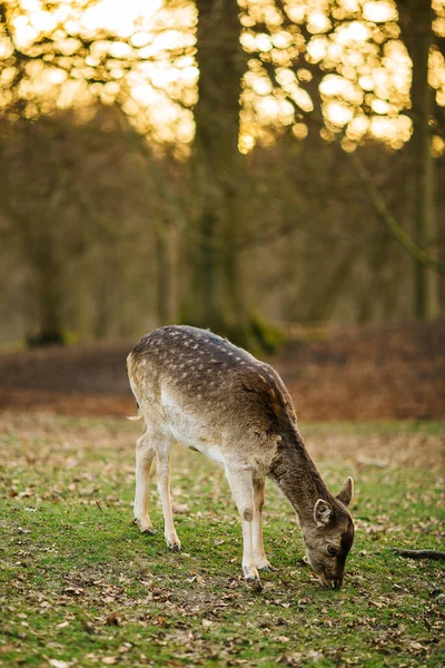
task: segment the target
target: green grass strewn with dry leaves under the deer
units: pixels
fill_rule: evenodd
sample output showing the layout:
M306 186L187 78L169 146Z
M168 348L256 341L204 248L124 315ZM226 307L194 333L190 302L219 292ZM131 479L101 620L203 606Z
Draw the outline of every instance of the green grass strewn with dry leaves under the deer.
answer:
M0 665L443 666L444 567L389 548L441 549L444 428L303 425L329 487L356 480L345 586L312 579L294 512L268 485L277 570L255 591L240 577L240 528L216 464L176 453L182 552L170 553L155 485L157 536L131 524L138 425L3 414Z

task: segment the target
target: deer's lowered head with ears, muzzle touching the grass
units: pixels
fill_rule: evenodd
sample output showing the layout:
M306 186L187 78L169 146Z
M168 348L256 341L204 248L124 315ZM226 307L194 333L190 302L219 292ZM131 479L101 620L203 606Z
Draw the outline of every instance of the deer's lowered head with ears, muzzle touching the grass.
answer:
M316 501L313 521L301 527L307 559L319 581L333 589L343 584L346 557L354 542L354 523L347 511L353 495L354 482L347 478L335 499Z

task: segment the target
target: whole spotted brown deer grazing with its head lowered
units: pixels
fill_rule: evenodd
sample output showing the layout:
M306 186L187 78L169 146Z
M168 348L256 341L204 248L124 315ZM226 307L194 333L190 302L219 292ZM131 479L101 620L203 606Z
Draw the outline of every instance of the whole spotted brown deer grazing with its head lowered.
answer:
M136 446L135 521L154 533L147 498L150 468L158 463L158 490L170 550L180 550L170 503L174 443L220 462L243 524L243 571L259 581L269 570L263 547L266 478L290 501L320 582L342 587L354 524L346 507L347 478L333 497L297 429L291 399L277 372L208 331L167 326L147 334L127 358L131 390L146 423Z

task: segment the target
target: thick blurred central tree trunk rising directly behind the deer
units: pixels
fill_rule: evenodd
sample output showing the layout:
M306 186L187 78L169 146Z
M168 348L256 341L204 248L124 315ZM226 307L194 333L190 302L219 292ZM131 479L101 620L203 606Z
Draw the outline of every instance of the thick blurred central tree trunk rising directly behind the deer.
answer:
M197 248L187 320L244 343L246 325L238 257L240 80L236 0L197 0L199 101L195 108L194 174L198 189Z

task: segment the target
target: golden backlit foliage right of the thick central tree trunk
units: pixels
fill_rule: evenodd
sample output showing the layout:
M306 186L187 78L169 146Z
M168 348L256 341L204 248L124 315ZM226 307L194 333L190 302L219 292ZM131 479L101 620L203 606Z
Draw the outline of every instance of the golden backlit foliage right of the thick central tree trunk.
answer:
M416 0L243 0L240 6L241 41L250 56L243 92L244 150L256 141L270 145L286 126L297 139L314 126L326 140L342 131L346 150L369 137L393 148L409 140L413 53L406 38L415 30ZM439 2L434 8L441 41L444 9ZM433 43L429 85L438 105L436 125L445 99L444 73L443 53ZM439 137L436 141L442 146Z

